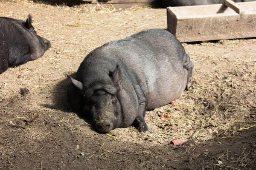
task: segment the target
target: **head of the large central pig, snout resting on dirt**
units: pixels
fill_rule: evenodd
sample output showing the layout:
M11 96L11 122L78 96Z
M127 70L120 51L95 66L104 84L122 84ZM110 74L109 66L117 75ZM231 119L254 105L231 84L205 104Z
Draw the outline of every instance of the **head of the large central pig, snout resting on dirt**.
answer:
M121 86L120 72L119 66L116 65L114 71L89 76L90 83L82 83L71 77L73 85L84 98L83 108L91 114L93 124L102 133L107 133L122 124L122 109L118 99Z

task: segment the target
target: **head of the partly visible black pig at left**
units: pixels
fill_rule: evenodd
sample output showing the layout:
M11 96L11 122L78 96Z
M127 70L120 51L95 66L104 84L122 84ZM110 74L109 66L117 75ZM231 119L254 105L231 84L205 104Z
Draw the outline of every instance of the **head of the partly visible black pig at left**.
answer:
M30 14L26 22L23 22L22 24L26 28L26 30L29 31L32 37L34 37L34 38L30 38L31 44L37 45L32 47L34 54L30 56L29 61L38 59L44 54L45 51L47 51L51 47L51 43L48 40L36 34L35 28L32 26L32 16Z

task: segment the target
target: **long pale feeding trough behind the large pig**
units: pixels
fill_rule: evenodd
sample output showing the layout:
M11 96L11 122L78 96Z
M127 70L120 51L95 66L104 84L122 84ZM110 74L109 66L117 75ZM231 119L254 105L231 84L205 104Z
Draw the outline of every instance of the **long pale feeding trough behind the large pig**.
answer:
M224 5L168 7L168 31L180 42L256 37L256 2L238 3L244 9L239 15Z

